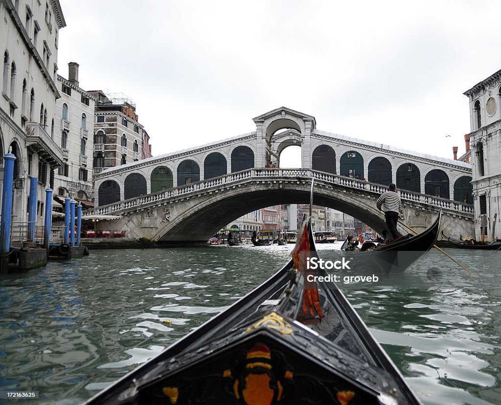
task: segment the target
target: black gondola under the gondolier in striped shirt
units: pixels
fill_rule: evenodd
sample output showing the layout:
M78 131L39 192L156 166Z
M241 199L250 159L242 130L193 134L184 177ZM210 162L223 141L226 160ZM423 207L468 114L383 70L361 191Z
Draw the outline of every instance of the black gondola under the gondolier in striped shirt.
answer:
M350 268L356 272L378 272L388 275L390 272L402 272L435 244L440 230L440 215L425 231L399 237L387 244L376 246L374 242L364 242L359 250L347 250L349 241L341 245L341 256L349 259Z

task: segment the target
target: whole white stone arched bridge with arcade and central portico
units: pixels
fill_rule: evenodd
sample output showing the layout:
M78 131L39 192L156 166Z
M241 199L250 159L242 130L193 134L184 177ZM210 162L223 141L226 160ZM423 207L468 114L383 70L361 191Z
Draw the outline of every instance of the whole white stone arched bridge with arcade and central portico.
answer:
M247 212L308 203L315 177L315 204L375 229L384 228L375 200L394 182L407 225L424 229L442 207L444 231L474 234L469 164L320 131L314 117L285 107L254 122L252 133L97 174L99 207L88 214L121 215L106 226L133 237L206 240ZM302 168L280 168L292 145L301 146Z

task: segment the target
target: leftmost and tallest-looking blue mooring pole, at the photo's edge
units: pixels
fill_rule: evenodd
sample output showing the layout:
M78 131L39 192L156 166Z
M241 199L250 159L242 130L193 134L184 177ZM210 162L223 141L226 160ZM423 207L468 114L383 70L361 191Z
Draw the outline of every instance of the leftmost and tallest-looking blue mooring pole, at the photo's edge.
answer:
M8 258L11 251L12 195L14 186L14 161L16 156L4 156L4 189L2 192L2 222L0 224L0 274L7 274Z

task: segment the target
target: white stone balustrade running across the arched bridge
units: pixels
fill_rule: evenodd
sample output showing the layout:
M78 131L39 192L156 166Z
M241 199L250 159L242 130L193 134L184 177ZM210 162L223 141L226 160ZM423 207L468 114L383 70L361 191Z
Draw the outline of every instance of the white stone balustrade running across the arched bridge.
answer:
M141 207L146 204L155 203L168 198L188 195L200 191L210 191L210 189L219 186L229 186L232 183L240 182L241 180L271 179L281 180L281 178L301 179L308 181L311 178L321 180L327 183L336 184L343 187L349 187L356 190L365 190L375 194L382 194L388 188L380 184L369 183L363 180L352 179L350 177L339 176L325 172L318 172L310 169L248 169L241 172L226 174L208 180L201 180L196 183L185 184L168 190L162 190L157 193L148 194L129 200L118 201L113 204L108 204L91 211L87 211L89 215L106 215L113 212L125 211L134 207ZM448 208L450 210L459 211L462 213L473 213L471 204L451 201L444 198L433 197L426 194L414 193L411 191L400 190L400 196L403 200L410 200L430 204L437 207Z

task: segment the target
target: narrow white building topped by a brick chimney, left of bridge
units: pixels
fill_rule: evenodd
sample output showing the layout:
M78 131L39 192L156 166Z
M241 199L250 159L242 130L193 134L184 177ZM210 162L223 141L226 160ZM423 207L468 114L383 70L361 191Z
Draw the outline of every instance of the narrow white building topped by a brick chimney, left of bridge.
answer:
M63 151L64 165L55 173L55 195L77 199L92 207L92 153L96 99L79 87L78 64L68 64L68 80L58 75L61 98L56 102L54 140ZM90 134L90 137L89 137Z

